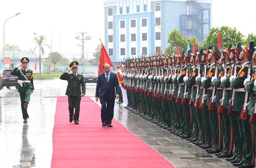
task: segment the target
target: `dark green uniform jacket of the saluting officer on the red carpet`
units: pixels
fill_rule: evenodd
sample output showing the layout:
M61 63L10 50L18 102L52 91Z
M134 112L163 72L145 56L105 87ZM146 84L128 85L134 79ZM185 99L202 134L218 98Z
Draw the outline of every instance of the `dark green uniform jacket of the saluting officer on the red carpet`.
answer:
M60 76L61 80L67 80L68 81L68 86L66 90L66 95L68 96L80 96L81 97L81 88L82 88L82 93L85 94L85 81L84 81L84 76L81 74L75 75L73 73L63 73Z

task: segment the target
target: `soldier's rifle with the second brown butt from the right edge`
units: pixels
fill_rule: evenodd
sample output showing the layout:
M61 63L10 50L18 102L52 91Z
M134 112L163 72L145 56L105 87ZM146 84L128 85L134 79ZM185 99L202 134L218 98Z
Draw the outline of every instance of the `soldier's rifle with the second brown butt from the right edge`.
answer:
M250 75L251 75L251 66L252 66L252 60L251 60L251 50L250 50L250 34L248 34L248 56L249 56L249 68L248 68L248 73L247 73L247 79L250 80ZM249 92L246 91L245 93L245 103L242 106L242 111L240 113L239 120L247 120L247 115L248 115L248 109L246 107L246 104L249 102Z

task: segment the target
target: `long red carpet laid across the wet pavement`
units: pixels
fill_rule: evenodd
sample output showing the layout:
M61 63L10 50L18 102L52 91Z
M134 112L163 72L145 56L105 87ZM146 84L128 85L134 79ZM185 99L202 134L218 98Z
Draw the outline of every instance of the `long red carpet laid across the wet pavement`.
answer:
M101 127L101 107L89 97L82 100L75 125L69 122L67 97L57 98L52 168L174 167L118 121L112 120L112 128Z

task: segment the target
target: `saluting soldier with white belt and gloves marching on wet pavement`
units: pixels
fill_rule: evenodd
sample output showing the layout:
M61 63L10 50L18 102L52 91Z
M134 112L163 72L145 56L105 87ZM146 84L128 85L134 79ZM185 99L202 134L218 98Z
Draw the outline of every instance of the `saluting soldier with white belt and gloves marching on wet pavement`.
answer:
M18 69L22 64L22 69ZM21 100L21 111L23 115L23 122L27 122L27 118L29 118L27 108L30 101L30 95L34 92L34 82L33 82L33 76L34 72L33 70L28 69L29 65L29 59L24 57L21 58L21 64L19 64L16 68L14 68L11 71L11 75L18 76L19 80L19 96Z

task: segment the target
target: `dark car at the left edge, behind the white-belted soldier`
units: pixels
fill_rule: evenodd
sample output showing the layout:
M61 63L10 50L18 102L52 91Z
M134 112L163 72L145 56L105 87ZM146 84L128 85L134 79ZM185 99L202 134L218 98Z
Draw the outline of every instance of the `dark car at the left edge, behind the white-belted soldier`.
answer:
M10 89L11 86L15 86L16 89L19 88L19 83L17 82L19 80L18 76L10 75L11 71L13 69L0 69L0 75L1 75L1 89L6 86L7 89Z

